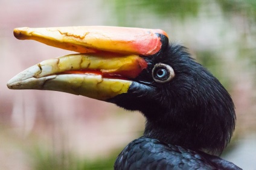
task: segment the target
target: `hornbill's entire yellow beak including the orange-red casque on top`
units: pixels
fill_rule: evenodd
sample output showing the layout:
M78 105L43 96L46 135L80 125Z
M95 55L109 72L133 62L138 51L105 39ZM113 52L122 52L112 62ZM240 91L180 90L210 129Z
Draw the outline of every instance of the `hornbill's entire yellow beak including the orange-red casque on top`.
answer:
M14 36L79 54L31 66L8 81L9 89L55 90L100 100L127 93L147 69L144 58L168 45L164 31L142 28L16 28Z

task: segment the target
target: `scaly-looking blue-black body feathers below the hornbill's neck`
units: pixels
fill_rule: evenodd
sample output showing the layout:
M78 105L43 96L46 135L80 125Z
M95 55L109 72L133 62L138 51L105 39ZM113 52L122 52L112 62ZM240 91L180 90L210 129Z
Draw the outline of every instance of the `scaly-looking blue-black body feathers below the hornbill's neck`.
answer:
M117 157L115 169L240 169L233 163L156 139L133 140Z

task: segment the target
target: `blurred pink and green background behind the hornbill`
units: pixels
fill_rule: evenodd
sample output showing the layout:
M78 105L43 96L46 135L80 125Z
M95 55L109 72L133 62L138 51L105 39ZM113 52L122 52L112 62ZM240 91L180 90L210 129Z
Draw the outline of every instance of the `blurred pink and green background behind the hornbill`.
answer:
M61 92L9 90L7 81L71 52L13 37L16 27L112 25L160 28L231 93L237 127L224 159L256 169L256 1L1 0L0 169L113 169L141 136L144 118Z

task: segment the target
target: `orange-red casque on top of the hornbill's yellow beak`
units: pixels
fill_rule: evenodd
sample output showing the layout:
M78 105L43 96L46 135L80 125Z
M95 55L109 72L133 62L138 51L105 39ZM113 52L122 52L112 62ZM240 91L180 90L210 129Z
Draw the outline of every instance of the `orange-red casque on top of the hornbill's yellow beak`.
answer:
M125 27L15 28L17 39L37 40L46 45L80 53L108 51L120 54L153 55L161 49L162 30Z

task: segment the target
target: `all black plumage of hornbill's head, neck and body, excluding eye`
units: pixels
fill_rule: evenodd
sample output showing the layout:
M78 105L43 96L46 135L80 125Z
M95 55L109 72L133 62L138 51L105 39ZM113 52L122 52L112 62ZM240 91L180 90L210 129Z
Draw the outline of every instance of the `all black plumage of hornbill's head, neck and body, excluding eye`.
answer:
M148 68L128 93L109 100L146 117L146 138L131 142L115 169L240 169L210 155L222 153L235 126L234 104L219 80L181 45L171 44L145 58ZM153 80L157 63L174 69L173 80Z

